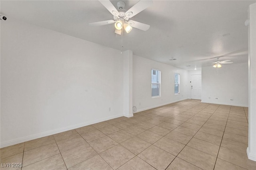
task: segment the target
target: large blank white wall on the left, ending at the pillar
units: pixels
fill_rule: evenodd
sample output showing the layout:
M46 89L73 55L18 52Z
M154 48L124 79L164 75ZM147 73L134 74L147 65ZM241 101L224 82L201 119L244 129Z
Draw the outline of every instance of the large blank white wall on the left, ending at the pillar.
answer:
M1 23L1 147L122 115L120 51Z

